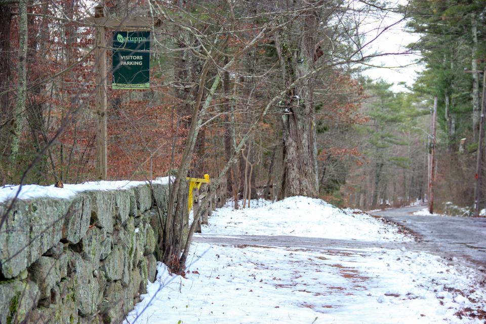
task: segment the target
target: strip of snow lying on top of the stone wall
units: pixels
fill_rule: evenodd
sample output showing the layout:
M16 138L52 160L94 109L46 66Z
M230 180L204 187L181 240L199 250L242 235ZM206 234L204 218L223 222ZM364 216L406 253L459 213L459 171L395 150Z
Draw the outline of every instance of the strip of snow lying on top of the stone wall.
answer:
M169 182L169 177L157 178L151 183L167 184ZM0 203L5 200L9 200L15 197L17 192L18 199L32 199L41 197L59 198L59 199L69 199L76 195L78 192L88 191L88 190L119 190L119 189L130 189L142 184L149 183L149 181L91 181L79 184L64 184L63 188L56 188L54 185L50 186L39 186L35 184L29 185L5 185L0 187Z

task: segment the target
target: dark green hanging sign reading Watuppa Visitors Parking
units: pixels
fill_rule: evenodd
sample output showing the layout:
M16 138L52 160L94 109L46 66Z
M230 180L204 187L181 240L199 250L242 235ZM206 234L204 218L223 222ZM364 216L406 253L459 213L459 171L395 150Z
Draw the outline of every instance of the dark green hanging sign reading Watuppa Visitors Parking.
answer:
M150 31L115 31L111 88L149 89L149 50Z

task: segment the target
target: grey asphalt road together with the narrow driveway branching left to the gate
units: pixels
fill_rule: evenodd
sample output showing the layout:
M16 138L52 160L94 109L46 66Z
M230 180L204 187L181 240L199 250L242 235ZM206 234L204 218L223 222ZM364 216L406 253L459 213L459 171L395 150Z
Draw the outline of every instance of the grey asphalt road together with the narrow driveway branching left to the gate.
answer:
M414 216L424 206L373 213L406 227L416 234L415 242L367 242L287 235L195 235L194 242L235 247L274 246L337 251L343 249L385 248L429 252L451 263L486 269L486 218ZM203 228L204 231L204 228Z

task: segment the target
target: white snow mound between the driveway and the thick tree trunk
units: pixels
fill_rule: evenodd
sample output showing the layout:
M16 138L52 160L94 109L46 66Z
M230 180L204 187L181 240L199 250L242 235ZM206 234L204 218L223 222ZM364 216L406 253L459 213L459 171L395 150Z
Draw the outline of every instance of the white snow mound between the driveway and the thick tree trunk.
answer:
M289 197L261 206L233 210L230 205L213 212L204 234L222 235L293 235L357 239L365 241L413 240L395 226L359 210L342 210L321 199Z

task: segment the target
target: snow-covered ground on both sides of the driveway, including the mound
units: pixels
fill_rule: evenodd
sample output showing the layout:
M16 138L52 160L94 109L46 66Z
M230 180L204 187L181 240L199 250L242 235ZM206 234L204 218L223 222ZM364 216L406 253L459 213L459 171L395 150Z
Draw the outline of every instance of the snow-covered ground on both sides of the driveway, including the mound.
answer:
M388 225L354 213L295 197L246 211L225 207L210 218L212 225L206 230L241 234L236 231L245 225L232 223L241 221L251 233L275 234L279 227L271 222L278 219L296 235L369 240L363 231L379 240L408 239L394 227L383 232ZM344 234L336 234L338 229ZM483 273L405 248L323 252L195 243L190 255L185 277L170 275L159 264L156 281L147 286L126 324L483 323L486 319Z

